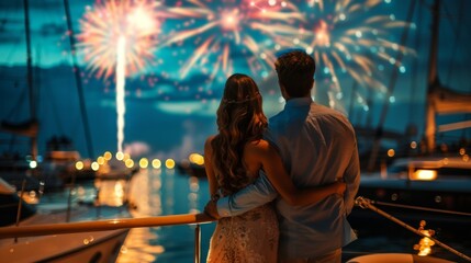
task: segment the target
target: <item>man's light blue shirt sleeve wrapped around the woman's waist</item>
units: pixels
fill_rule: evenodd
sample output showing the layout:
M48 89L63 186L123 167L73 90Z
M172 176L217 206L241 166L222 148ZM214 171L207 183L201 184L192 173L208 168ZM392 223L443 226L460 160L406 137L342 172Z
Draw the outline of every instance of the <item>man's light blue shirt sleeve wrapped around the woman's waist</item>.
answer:
M258 206L273 201L278 196L263 172L250 185L239 192L222 197L217 201L217 214L221 217L242 215Z

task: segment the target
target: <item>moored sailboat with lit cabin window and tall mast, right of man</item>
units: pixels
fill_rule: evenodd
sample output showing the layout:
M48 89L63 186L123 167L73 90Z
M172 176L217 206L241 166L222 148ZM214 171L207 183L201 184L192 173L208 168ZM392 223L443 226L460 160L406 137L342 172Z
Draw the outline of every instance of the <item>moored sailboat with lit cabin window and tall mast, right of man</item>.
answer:
M362 178L360 192L373 194L379 199L391 201L390 190L396 193L392 201L403 204L430 204L434 208L449 208L471 213L471 198L467 197L471 188L471 161L461 148L459 152L441 153L436 146L438 114L471 113L471 94L456 92L440 83L437 72L438 28L440 0L433 5L431 43L428 66L428 87L426 94L426 126L423 155L397 159L389 169ZM439 132L467 128L469 121L447 124ZM407 192L399 194L400 192ZM422 199L428 192L435 193L429 201ZM375 193L378 192L378 193ZM380 193L381 192L381 193ZM362 194L360 193L360 194ZM379 194L380 193L380 194ZM413 195L411 197L410 196ZM447 196L447 197L445 197ZM404 199L405 198L405 199ZM445 202L445 199L447 199Z

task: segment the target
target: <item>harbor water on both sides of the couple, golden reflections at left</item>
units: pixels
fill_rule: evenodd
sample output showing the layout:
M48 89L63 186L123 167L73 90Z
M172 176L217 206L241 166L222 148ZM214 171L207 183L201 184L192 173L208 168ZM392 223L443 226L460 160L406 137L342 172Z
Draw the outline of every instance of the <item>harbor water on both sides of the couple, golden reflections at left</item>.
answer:
M190 178L173 170L143 171L133 179L130 186L130 194L137 205L133 210L134 217L198 213L209 199L206 180ZM469 255L469 226L461 230L453 226L440 226L440 229L436 229L436 238ZM201 262L205 262L214 227L215 224L201 227ZM365 224L356 224L355 228L359 239L344 248L344 261L368 253L417 253L413 247L420 237L393 222L377 225L366 220ZM193 245L194 226L133 229L117 262L193 262ZM438 245L433 247L431 255L463 262Z

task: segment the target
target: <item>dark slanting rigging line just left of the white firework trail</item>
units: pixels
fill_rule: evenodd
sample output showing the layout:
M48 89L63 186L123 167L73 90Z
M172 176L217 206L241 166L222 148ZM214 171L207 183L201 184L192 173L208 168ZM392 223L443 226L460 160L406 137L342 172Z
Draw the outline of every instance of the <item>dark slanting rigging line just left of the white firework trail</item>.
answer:
M79 101L80 101L80 113L83 121L83 130L85 130L85 137L87 142L87 150L88 150L89 157L93 159L93 145L91 141L90 126L88 122L87 108L85 103L83 88L82 88L81 76L80 76L80 67L77 65L77 52L75 48L76 43L74 38L74 28L72 28L72 22L70 18L70 7L69 7L68 0L64 0L64 9L66 11L67 28L69 31L72 67L74 67L75 80L76 80L76 85L77 85Z

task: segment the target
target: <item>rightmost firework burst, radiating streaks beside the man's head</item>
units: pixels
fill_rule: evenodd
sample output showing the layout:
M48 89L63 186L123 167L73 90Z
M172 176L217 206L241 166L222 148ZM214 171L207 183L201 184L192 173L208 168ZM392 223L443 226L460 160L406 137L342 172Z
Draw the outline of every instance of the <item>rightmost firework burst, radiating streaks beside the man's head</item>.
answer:
M385 92L385 85L379 80L384 68L381 62L405 70L394 57L397 53L414 52L388 38L391 30L411 24L395 20L393 14L370 12L384 1L307 0L305 3L307 23L300 26L294 41L313 54L321 73L329 78L330 106L343 98L340 75L350 76L360 87ZM356 95L359 102L366 101L359 93Z

